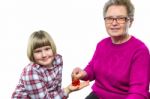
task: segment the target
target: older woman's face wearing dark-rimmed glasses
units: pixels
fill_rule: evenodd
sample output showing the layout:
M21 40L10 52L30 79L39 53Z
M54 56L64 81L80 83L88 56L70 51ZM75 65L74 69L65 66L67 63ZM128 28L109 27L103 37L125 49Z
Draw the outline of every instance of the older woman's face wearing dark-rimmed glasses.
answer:
M110 6L104 19L106 31L111 37L122 36L128 33L128 28L131 26L125 6Z

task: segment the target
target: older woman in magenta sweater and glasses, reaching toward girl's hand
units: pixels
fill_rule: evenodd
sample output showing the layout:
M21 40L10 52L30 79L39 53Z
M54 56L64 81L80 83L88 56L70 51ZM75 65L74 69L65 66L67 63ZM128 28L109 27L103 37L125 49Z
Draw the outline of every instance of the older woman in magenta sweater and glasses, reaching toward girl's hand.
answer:
M98 42L84 68L72 76L95 81L86 99L149 99L150 54L146 45L129 34L134 19L130 0L109 0L104 6L107 37Z

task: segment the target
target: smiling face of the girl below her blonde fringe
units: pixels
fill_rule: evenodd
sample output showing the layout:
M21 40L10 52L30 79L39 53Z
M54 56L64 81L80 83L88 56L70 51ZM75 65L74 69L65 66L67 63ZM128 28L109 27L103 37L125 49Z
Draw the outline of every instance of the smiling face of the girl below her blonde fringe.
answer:
M50 46L36 48L33 51L33 57L37 64L43 66L50 66L54 59L53 51Z

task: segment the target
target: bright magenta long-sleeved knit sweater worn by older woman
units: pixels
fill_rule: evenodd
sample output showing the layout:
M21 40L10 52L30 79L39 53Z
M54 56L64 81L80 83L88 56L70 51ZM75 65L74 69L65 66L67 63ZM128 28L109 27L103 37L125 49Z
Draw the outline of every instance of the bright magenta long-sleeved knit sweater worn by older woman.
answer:
M84 70L84 80L95 81L92 90L100 99L150 99L149 50L133 36L122 44L110 37L100 41Z

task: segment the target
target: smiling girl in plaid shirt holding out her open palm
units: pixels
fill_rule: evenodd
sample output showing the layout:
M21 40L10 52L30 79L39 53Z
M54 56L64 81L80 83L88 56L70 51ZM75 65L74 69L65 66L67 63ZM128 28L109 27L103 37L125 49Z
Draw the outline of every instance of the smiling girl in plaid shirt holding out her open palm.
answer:
M66 99L70 92L89 84L70 84L61 89L62 56L57 54L52 37L45 31L40 30L31 34L27 56L31 63L23 69L12 99Z

